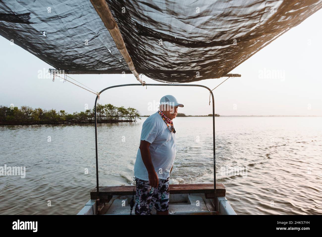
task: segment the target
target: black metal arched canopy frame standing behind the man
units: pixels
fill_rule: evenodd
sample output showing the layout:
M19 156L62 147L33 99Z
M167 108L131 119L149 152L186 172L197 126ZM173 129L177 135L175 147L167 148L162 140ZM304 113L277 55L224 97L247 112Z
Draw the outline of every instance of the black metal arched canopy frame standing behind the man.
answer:
M122 86L142 86L141 84L123 84L123 85L114 85L114 86L109 86L99 92L101 94L102 92L115 88L115 87L122 87ZM213 92L210 90L207 86L204 85L196 85L196 84L145 84L145 86L199 86L199 87L204 87L206 88L212 98L213 98ZM97 99L98 96L96 96L95 99L95 152L96 152L96 187L97 187L97 195L99 197L99 170L98 170L98 154L97 154L97 117L96 117L96 104L97 104ZM215 152L215 102L213 98L213 187L214 187L214 198L216 199L216 152ZM215 205L215 210L217 211L217 202L216 200L214 201Z

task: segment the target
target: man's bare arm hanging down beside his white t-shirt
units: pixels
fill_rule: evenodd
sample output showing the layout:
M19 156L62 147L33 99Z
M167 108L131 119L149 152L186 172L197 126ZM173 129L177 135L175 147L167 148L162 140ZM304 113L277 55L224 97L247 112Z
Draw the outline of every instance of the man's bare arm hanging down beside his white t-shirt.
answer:
M140 152L142 161L147 168L147 173L149 175L149 182L151 187L157 188L159 186L159 180L158 175L156 174L156 171L154 170L154 166L151 160L151 154L150 154L150 144L147 141L141 140L140 142Z

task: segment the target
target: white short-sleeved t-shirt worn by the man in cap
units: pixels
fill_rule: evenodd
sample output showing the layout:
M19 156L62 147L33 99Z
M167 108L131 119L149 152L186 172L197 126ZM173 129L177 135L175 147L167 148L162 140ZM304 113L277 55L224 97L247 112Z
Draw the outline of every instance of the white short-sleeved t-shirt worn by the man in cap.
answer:
M175 133L168 129L158 112L150 115L144 121L140 140L151 143L149 146L151 161L158 178L168 178L175 160ZM137 150L134 176L142 180L149 180L147 168L142 161L140 148Z

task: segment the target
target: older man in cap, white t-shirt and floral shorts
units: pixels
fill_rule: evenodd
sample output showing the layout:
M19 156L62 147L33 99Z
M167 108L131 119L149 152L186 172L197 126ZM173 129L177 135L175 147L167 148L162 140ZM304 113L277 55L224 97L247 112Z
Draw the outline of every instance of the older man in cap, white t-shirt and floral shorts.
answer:
M135 214L167 215L169 208L169 178L175 160L175 128L172 120L179 104L174 96L165 95L159 110L144 121L140 147L134 165L137 185Z

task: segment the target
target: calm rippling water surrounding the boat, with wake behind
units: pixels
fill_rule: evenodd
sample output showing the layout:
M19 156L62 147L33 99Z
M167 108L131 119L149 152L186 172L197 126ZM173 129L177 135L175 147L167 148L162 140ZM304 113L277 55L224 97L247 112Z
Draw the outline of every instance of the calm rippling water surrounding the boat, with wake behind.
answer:
M145 119L98 125L100 186L134 183ZM321 122L321 117L216 117L217 182L226 186L237 214L322 213ZM213 182L212 118L175 118L174 125L171 182ZM0 134L0 166L26 167L25 178L0 176L0 214L81 210L96 186L93 124L0 126Z

